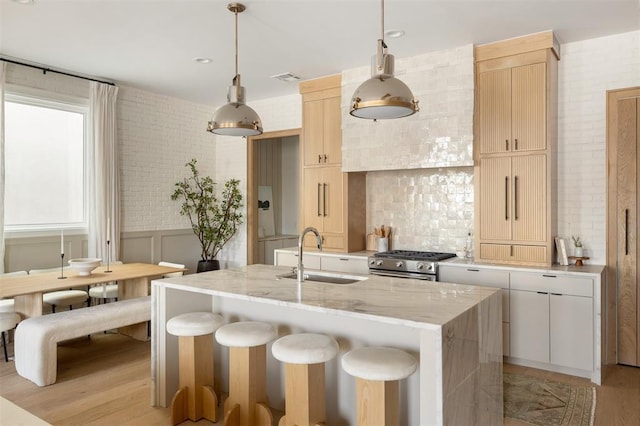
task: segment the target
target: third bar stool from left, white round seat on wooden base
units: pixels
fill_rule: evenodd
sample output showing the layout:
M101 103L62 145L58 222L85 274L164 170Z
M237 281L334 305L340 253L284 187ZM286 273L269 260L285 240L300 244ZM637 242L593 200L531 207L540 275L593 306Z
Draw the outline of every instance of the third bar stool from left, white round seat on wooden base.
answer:
M336 356L338 342L324 334L291 334L276 340L271 352L285 363L285 414L278 425L325 424L324 363Z

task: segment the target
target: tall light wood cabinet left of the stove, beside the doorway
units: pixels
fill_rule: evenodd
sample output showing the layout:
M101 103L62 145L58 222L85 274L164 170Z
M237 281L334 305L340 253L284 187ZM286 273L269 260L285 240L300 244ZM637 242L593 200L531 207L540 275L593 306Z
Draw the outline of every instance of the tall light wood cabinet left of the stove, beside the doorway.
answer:
M341 76L300 84L302 94L302 208L300 228L316 228L323 250L363 250L366 231L364 173L342 172ZM305 247L316 245L308 235Z

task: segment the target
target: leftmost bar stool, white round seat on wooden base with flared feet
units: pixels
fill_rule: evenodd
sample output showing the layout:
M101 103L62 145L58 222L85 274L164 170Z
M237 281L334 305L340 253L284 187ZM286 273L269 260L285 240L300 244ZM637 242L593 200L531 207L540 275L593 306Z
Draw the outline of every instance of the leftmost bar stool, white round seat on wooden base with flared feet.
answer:
M222 316L212 312L189 312L167 321L167 332L178 336L179 386L171 401L174 425L187 418L215 423L218 398L213 391L213 332Z

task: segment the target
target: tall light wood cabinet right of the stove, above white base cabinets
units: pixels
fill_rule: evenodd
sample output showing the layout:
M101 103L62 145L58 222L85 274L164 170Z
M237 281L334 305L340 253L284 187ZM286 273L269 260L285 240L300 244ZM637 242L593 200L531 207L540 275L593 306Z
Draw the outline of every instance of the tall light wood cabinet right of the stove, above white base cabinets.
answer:
M478 46L475 54L475 257L551 265L557 41L546 32Z

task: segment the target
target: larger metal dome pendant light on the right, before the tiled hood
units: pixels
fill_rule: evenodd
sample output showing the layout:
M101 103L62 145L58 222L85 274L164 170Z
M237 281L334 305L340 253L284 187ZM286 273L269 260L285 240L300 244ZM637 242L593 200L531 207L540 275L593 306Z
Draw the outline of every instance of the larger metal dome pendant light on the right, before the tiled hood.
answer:
M369 120L402 118L419 111L418 100L402 81L393 76L394 58L384 42L384 0L382 1L382 36L371 58L371 78L356 89L349 114Z

